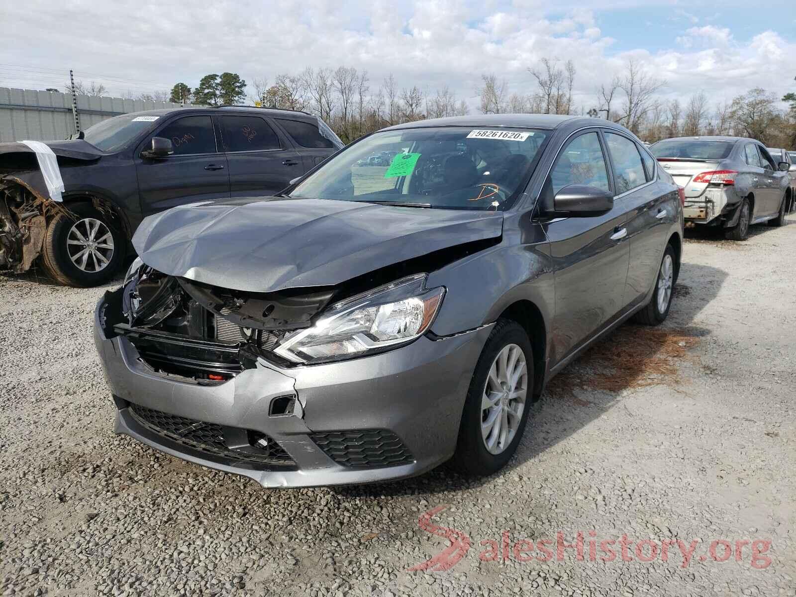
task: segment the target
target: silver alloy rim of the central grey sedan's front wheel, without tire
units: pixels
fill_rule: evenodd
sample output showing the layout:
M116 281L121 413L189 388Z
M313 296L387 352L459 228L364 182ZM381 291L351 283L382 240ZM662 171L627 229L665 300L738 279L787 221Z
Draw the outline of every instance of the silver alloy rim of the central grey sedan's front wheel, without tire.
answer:
M492 362L481 402L481 436L486 450L500 454L520 427L528 394L528 365L516 344L505 345Z

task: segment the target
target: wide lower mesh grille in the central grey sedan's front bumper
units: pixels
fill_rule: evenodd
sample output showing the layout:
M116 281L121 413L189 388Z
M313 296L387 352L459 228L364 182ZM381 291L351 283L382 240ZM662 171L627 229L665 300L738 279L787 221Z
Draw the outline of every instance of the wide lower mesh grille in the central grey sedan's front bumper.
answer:
M239 430L237 427L224 427L217 423L205 423L167 412L131 404L130 412L136 421L154 433L180 443L193 450L204 452L215 460L235 465L248 465L263 469L262 465L295 466L293 458L287 455L278 443L267 435L255 431ZM224 441L224 429L245 431L249 437L256 436L252 451L232 450Z

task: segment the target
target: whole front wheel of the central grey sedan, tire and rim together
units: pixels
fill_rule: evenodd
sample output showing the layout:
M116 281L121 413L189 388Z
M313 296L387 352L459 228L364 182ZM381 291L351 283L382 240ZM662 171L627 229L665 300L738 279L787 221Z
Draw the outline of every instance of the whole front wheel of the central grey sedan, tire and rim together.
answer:
M533 392L533 350L528 334L499 319L478 358L451 461L464 474L492 474L517 451Z

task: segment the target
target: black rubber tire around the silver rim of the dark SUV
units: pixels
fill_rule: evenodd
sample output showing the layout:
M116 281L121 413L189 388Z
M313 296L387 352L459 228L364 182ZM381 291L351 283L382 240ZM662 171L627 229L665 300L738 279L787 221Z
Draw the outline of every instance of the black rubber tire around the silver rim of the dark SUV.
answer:
M41 251L42 266L52 279L64 286L92 287L107 282L119 271L124 262L127 238L107 216L91 205L68 205L68 210L74 217L60 213L47 224L44 247ZM99 221L105 227L99 228L95 240L100 240L100 234L107 229L113 240L113 248L103 248L109 244L107 240L98 244L96 253L101 256L100 259L91 256L91 259L85 263L85 269L81 269L70 257L71 254L80 252L81 247L68 244L67 241L74 226L78 227L76 232L87 232L84 226L94 221ZM101 259L107 259L107 263L102 263ZM79 258L78 261L80 260ZM96 271L92 271L94 269Z

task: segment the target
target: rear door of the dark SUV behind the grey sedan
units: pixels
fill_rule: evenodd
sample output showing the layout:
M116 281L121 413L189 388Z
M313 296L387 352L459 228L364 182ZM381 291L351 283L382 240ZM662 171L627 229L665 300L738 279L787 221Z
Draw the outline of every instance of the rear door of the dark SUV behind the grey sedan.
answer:
M302 174L292 143L259 115L217 115L232 197L279 193Z

